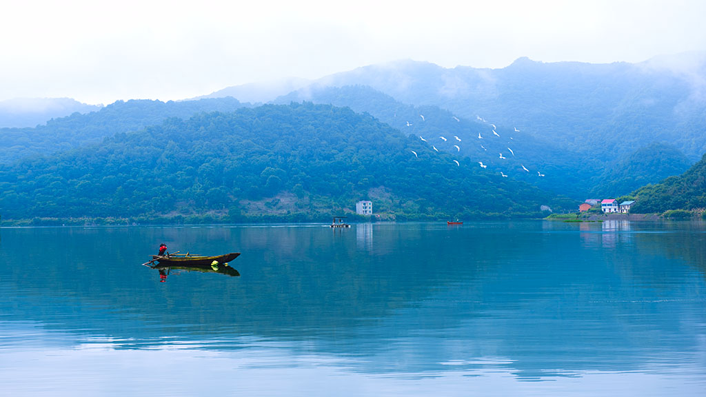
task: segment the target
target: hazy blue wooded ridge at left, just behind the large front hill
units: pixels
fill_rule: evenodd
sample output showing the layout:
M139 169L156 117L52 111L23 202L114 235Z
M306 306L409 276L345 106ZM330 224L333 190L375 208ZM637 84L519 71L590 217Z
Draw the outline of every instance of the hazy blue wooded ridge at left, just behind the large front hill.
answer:
M160 124L169 117L187 119L198 112L229 112L242 106L232 97L186 102L117 101L98 112L74 113L36 128L0 129L0 163L99 143L114 134Z

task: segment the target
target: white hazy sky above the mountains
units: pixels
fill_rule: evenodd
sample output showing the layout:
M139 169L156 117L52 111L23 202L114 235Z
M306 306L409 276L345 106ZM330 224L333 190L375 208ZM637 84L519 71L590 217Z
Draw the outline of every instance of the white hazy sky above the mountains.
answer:
M706 51L706 1L0 0L0 100L178 100L397 59L503 68Z

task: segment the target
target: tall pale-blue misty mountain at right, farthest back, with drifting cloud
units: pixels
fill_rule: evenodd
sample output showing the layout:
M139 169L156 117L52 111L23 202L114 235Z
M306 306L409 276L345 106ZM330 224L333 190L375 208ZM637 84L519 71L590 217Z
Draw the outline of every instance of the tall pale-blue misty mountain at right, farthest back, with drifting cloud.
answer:
M503 69L400 61L337 73L313 86L369 85L400 102L448 109L525 131L572 151L632 153L670 143L693 161L706 151L706 53L640 64L542 63Z

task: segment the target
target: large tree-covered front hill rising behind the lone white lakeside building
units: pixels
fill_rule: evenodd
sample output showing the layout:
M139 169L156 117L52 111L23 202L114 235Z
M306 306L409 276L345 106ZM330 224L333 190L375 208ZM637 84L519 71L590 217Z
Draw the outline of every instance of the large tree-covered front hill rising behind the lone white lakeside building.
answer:
M575 205L369 115L311 103L170 118L2 165L0 191L4 220L325 220L366 198L396 219L536 216L542 205Z

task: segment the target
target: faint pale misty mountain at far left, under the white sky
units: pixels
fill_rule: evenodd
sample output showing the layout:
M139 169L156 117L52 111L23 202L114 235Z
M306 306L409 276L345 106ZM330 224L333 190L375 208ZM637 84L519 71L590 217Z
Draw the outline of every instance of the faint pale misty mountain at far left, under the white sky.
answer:
M73 113L97 112L102 105L86 105L70 98L18 98L0 101L0 128L34 127Z

